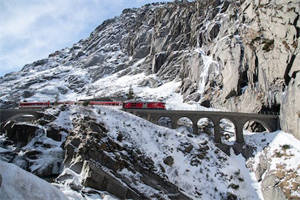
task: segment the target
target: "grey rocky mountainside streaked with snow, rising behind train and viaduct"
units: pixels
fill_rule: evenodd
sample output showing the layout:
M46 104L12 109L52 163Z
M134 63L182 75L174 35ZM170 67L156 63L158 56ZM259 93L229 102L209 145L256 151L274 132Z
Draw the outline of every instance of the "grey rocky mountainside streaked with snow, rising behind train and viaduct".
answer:
M140 74L142 80L126 87L175 81L186 102L280 112L282 129L300 138L299 4L214 0L126 9L73 47L1 77L1 107L24 99L101 96L110 87L103 86L105 77Z

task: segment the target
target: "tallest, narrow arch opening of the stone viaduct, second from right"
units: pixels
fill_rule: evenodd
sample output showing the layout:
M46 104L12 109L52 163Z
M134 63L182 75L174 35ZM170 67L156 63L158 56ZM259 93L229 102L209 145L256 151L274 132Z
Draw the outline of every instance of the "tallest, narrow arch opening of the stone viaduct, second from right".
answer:
M232 145L237 141L237 127L233 120L222 118L219 121L221 141Z

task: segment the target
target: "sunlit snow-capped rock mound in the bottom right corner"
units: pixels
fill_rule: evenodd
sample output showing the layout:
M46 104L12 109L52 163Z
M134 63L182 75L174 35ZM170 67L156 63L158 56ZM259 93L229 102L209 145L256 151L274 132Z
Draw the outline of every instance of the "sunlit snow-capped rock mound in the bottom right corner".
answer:
M257 149L247 165L264 199L300 198L300 141L283 131L245 133L246 142Z

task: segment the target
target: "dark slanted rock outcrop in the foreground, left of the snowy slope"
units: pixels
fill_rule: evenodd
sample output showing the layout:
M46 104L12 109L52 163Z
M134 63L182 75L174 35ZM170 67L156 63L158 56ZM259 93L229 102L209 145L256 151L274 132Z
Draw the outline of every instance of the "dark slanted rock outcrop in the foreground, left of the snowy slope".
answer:
M108 191L121 199L189 199L158 173L151 158L123 145L121 136L119 142L111 139L103 124L89 117L73 124L74 131L65 143L64 163L83 175L83 186ZM64 181L64 174L57 180ZM144 187L151 189L145 192Z

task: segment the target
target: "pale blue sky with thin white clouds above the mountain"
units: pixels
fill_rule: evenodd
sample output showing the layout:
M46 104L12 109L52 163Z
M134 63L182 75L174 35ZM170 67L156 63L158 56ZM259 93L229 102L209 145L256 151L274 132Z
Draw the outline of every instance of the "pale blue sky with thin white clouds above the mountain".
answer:
M71 47L125 8L152 2L160 0L0 0L0 76Z

